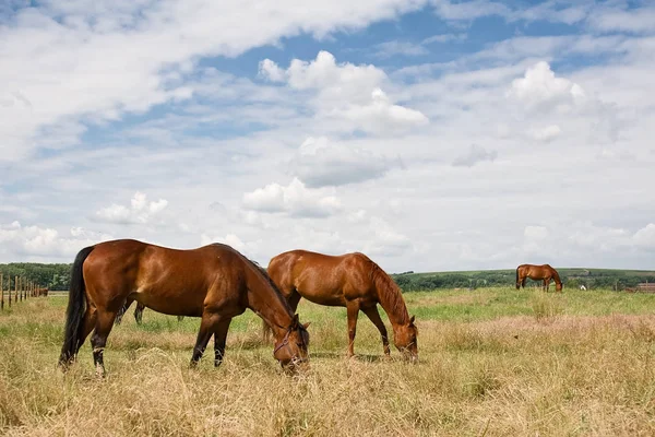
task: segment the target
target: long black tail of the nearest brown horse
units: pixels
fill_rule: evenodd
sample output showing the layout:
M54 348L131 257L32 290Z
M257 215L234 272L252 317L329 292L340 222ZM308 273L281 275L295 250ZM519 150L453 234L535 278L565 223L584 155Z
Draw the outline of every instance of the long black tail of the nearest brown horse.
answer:
M86 287L84 285L84 275L82 267L94 246L85 247L80 250L71 269L71 291L69 292L69 303L66 310L66 327L63 334L63 346L59 356L59 365L66 366L74 359L82 333L82 320L86 310Z

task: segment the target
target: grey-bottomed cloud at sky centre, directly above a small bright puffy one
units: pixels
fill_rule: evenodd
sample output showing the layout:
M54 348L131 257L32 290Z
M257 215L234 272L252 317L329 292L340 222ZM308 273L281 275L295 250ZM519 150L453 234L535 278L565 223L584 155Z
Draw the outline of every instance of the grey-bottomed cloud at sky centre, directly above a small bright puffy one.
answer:
M290 162L291 173L310 188L362 182L400 166L398 160L324 137L305 140Z

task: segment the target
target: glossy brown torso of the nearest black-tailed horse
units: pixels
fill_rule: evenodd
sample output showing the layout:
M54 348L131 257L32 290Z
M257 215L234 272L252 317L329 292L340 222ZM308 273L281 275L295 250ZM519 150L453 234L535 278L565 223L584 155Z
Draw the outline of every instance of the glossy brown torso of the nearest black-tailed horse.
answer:
M83 273L87 294L106 306L130 296L159 312L195 316L217 282L222 288L243 288L242 262L224 245L178 250L124 239L96 245Z

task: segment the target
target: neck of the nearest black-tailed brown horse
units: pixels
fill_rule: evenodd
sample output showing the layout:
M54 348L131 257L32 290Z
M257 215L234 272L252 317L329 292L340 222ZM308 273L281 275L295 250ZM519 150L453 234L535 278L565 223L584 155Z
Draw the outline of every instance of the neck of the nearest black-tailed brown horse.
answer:
M269 323L276 336L284 335L294 317L285 298L259 271L248 272L247 281L248 307Z

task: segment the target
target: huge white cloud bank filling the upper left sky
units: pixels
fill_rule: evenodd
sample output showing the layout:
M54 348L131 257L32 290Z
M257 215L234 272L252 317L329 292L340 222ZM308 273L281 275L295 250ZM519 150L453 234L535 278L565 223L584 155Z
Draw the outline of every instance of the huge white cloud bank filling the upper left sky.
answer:
M234 57L301 32L324 37L420 5L382 0L298 8L277 1L243 14L239 2L80 0L20 9L9 14L11 25L0 27L0 58L11 66L0 69L0 160L29 154L40 146L39 133L61 122L107 122L189 98L193 90L182 82L200 57ZM57 140L59 146L76 141Z

